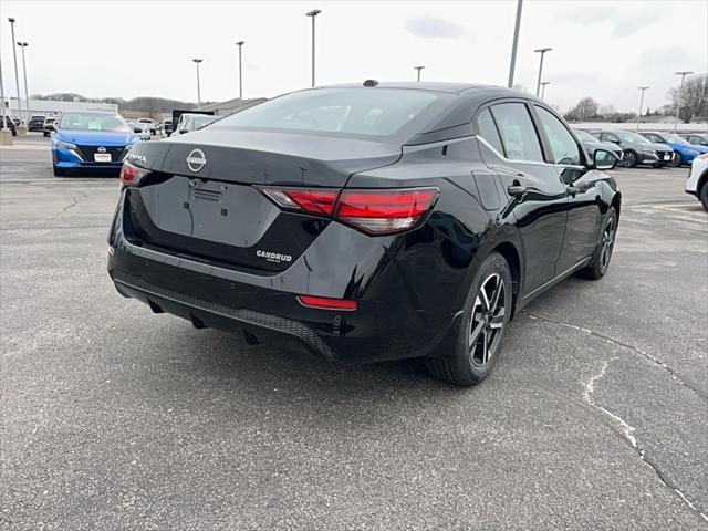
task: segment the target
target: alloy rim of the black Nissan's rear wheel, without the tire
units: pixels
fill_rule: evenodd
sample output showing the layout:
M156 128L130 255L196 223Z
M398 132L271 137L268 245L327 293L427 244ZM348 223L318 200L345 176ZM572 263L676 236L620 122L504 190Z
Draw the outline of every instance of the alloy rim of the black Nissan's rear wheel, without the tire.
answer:
M483 367L489 363L501 341L506 322L504 281L499 273L482 282L469 326L469 355L472 364Z

